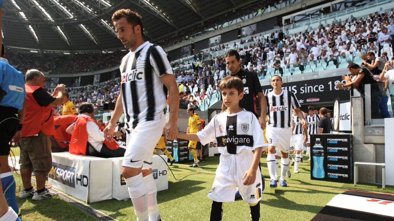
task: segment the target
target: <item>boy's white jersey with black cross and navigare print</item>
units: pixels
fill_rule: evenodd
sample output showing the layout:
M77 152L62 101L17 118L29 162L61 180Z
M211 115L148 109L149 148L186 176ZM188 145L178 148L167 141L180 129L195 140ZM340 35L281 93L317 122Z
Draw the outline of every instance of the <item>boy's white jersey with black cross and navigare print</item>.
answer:
M217 149L223 155L250 152L268 146L255 114L244 109L236 114L217 114L197 136L203 145L216 139Z

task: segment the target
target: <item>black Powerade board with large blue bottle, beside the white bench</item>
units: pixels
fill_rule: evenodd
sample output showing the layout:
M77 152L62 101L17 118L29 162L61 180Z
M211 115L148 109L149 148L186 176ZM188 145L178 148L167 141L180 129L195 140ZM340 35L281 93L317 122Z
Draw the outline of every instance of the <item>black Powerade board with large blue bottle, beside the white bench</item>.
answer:
M311 134L310 179L353 183L351 134Z

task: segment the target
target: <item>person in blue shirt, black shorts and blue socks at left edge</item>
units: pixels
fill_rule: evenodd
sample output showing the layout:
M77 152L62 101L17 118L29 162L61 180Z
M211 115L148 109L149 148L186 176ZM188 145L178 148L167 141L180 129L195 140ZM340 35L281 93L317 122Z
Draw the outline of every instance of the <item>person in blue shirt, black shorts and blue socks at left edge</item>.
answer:
M0 178L3 183L4 197L15 213L19 214L19 208L15 198L15 179L8 166L10 151L9 142L19 142L22 120L24 118L24 98L26 91L22 72L17 71L8 64L4 58L5 48L2 44L0 57ZM15 135L15 136L14 136Z

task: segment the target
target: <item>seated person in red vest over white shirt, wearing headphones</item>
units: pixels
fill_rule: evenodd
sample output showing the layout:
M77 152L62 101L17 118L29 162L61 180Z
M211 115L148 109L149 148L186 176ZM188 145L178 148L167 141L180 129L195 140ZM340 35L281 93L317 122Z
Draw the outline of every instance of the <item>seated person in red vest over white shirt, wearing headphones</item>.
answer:
M123 157L125 148L119 148L115 140L106 141L104 133L99 127L99 123L94 119L95 110L91 103L81 103L79 105L78 119L75 122L74 130L71 135L70 149L71 154L90 155L94 157ZM122 133L115 131L114 136L120 137ZM87 145L90 148L87 149Z

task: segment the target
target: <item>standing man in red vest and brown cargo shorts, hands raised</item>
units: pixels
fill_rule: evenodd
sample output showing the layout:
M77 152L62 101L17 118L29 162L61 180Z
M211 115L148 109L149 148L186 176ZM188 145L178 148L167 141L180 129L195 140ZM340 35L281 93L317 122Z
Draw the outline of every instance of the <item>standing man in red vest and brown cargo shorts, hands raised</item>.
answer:
M44 90L45 77L39 70L31 69L26 73L26 116L22 127L20 141L20 175L23 190L20 198L33 197L41 200L52 197L45 188L46 174L52 168L51 135L55 134L52 105L61 106L65 85L60 84L53 94ZM31 178L34 168L37 190L35 191Z

